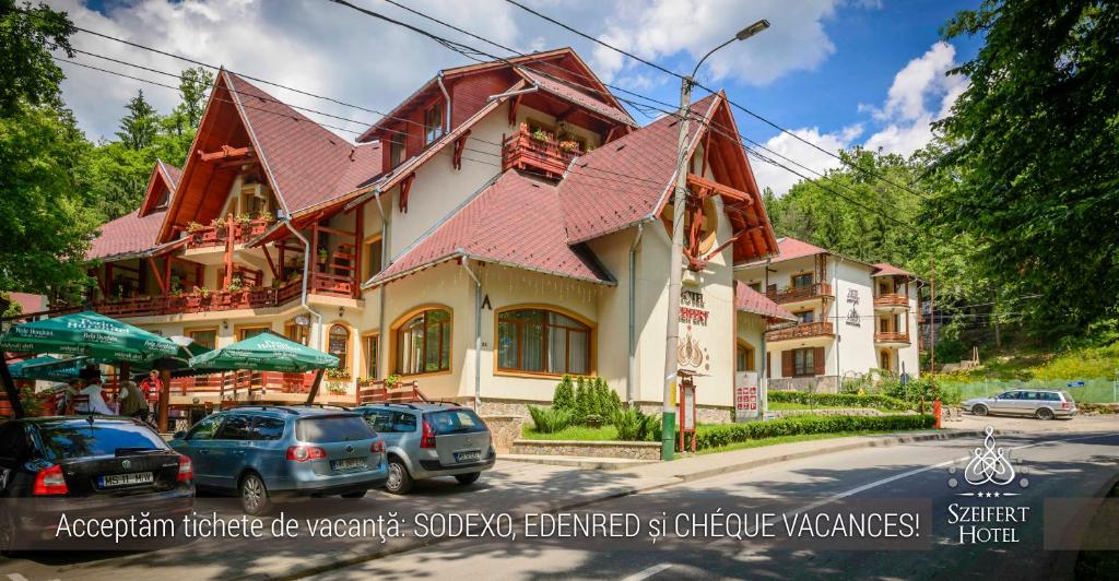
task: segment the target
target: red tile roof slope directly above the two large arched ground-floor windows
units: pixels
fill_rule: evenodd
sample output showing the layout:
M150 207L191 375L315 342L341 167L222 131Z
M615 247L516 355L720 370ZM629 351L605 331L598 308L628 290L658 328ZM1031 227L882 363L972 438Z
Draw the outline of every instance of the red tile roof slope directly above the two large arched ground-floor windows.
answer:
M590 250L567 244L556 188L508 171L405 250L367 285L382 285L462 256L592 283L614 284Z

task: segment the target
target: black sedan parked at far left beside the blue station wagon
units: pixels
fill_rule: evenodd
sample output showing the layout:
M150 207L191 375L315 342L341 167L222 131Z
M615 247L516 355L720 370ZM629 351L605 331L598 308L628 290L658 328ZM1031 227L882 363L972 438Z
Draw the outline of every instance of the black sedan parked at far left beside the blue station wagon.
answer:
M65 416L0 425L2 551L142 549L154 540L90 532L104 532L94 527L105 522L181 521L194 496L190 459L140 421Z

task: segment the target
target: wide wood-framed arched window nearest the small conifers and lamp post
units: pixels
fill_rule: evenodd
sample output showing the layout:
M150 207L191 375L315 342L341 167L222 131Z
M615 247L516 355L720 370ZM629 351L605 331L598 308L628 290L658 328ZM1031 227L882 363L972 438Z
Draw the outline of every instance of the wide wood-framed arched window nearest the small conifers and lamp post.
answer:
M591 372L591 327L554 311L505 311L497 323L498 369L529 373Z

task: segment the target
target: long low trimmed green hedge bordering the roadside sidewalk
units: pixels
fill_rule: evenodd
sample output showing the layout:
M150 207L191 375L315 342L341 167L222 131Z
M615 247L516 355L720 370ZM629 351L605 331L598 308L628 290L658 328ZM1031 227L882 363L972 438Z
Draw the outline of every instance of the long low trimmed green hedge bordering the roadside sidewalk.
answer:
M700 425L696 429L696 449L801 434L918 430L932 428L934 423L932 416L802 416L749 423Z

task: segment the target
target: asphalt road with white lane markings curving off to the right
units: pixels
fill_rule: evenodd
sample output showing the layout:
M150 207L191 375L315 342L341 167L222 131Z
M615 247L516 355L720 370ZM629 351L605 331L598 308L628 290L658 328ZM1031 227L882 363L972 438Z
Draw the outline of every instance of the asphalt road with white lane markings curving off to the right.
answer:
M1012 420L1013 421L1013 420ZM995 420L993 423L998 423ZM1113 422L1109 425L1113 427ZM650 493L598 503L594 512L634 513L743 511L744 507L805 506L821 499L931 498L931 550L812 551L774 549L756 542L661 541L648 539L450 541L425 550L370 561L316 578L367 579L623 579L771 578L803 579L836 574L862 579L1062 579L1070 574L1068 553L1042 550L1045 499L1092 496L1119 476L1119 435L1115 431L1056 431L999 438L1018 448L1019 473L1028 477L1022 496L1007 502L961 498L948 469L965 458L976 439L930 441L852 450L782 463ZM1085 426L1087 427L1087 426ZM962 464L958 466L962 467ZM981 489L994 489L990 485ZM1013 487L1003 489L1014 489ZM947 523L950 503L1014 505L1031 509L1017 526L1017 543L960 545ZM825 505L826 506L826 505ZM1119 523L1113 526L1119 526ZM1112 534L1116 532L1112 531ZM1117 572L1119 573L1119 572Z

